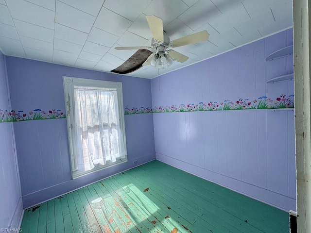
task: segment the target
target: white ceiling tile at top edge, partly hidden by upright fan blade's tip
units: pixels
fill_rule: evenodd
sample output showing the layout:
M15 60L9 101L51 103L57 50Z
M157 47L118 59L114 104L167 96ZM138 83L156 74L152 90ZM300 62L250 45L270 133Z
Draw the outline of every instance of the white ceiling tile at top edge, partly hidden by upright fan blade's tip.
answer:
M163 25L168 25L180 16L189 7L182 0L153 0L143 11L145 15L155 15L163 20Z

